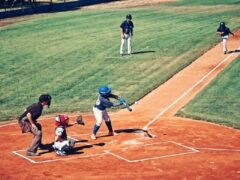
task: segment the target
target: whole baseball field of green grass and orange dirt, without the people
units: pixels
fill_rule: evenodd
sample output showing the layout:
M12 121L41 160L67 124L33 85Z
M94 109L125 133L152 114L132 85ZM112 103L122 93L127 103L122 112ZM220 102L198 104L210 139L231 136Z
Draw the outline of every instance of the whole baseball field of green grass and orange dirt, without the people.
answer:
M2 179L240 179L240 1L127 2L0 27ZM120 56L128 13L133 54ZM216 35L220 21L235 33L229 54ZM119 135L106 136L103 125L93 141L91 110L103 84L133 111L112 110ZM83 114L84 127L68 128L74 154L25 156L32 137L14 119L45 92L53 98L39 120L47 146L56 114L72 123Z

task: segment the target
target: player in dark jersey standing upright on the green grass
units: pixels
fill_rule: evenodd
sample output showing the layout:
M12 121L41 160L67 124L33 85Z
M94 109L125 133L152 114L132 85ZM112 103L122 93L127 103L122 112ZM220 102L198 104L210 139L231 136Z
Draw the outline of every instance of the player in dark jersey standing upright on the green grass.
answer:
M127 42L128 47L128 54L131 55L132 47L131 47L131 39L133 36L133 22L132 22L132 15L128 14L126 16L126 20L122 22L120 25L120 32L121 32L121 46L120 46L120 55L123 55L123 46L125 42Z

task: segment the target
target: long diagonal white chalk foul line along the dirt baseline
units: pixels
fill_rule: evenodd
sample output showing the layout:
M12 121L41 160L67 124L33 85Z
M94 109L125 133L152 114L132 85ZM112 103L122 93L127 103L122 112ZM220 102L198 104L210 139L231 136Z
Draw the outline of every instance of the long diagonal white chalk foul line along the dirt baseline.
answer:
M240 46L238 47L240 48ZM189 92L191 92L195 87L197 87L200 83L202 83L209 75L211 75L218 67L220 67L223 63L225 63L233 54L228 55L225 59L223 59L217 66L215 66L210 72L208 72L205 76L202 77L197 83L195 83L191 88L189 88L185 93L183 93L180 97L178 97L175 101L173 101L170 105L168 105L165 109L163 109L153 120L151 120L147 125L143 127L144 130L157 121L166 111L168 111L172 106L174 106L178 101L183 99Z

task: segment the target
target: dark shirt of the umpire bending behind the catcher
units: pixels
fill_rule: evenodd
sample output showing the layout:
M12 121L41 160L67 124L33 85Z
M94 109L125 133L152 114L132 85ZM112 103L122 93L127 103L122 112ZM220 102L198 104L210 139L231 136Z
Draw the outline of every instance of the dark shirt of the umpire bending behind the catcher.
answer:
M42 104L39 103L34 103L31 106L27 107L25 112L19 117L21 120L23 117L27 115L27 113L30 113L32 115L32 119L34 122L37 122L37 119L41 116L43 110Z

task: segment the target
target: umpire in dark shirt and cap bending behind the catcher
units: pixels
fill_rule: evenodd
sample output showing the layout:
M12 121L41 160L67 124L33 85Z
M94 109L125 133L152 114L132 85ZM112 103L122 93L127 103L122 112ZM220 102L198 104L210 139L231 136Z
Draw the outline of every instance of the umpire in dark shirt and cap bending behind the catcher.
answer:
M42 94L39 102L27 107L18 119L22 133L31 132L34 135L32 144L27 150L27 156L39 156L37 150L42 145L42 126L37 119L41 116L44 106L50 107L51 99L49 94Z

